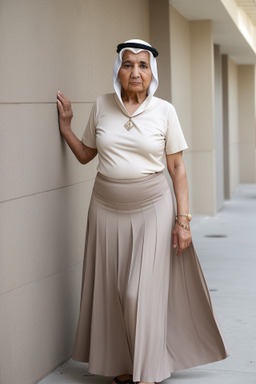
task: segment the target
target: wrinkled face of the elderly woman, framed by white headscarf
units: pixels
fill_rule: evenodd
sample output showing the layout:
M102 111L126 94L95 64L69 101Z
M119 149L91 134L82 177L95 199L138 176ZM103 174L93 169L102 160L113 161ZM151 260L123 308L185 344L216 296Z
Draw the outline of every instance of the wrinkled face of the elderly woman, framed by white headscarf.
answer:
M147 93L152 79L149 53L142 51L135 54L126 50L122 59L122 66L118 73L122 91Z

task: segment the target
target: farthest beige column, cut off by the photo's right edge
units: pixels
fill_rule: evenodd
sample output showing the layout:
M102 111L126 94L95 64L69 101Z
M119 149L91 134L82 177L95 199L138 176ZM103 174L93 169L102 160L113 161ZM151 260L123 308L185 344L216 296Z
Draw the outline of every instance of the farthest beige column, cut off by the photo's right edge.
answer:
M239 178L241 183L256 182L255 163L255 67L238 67Z

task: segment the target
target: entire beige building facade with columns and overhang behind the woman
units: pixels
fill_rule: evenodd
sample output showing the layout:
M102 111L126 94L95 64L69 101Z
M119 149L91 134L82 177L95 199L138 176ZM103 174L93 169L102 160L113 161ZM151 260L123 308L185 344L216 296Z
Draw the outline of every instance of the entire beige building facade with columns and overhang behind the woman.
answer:
M256 6L246 3L1 0L1 384L36 383L72 353L97 160L78 164L61 138L57 91L81 137L95 98L112 92L117 44L149 41L156 95L174 104L189 145L191 211L214 215L256 182Z

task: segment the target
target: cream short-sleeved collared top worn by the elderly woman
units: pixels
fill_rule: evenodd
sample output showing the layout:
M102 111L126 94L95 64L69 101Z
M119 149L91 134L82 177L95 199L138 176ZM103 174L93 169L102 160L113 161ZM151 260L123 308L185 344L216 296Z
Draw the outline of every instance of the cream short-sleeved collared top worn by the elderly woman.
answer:
M132 128L125 124L131 121ZM132 179L161 172L163 157L187 148L172 104L147 98L129 115L116 94L97 98L82 142L97 148L98 172L114 179Z

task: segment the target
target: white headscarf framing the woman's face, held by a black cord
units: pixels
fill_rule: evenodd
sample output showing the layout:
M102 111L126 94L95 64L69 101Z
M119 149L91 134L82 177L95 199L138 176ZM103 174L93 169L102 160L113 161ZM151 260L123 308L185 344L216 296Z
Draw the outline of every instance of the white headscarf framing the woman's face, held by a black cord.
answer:
M148 45L149 47L151 47L151 45L149 43L147 43L146 41L143 41L143 40L139 40L139 39L127 40L127 41L125 41L125 43L144 44L144 45ZM118 53L118 55L116 57L116 60L115 60L115 63L114 63L114 69L113 69L113 86L114 86L114 90L115 90L119 100L122 103L121 83L120 83L120 80L119 80L119 77L118 77L118 73L119 73L119 69L120 69L120 67L122 65L123 53L126 50L129 50L129 51L131 51L131 52L133 52L135 54L137 54L139 52L142 52L142 51L146 51L146 52L149 53L149 56L150 56L150 68L151 68L151 71L152 71L152 79L151 79L151 82L150 82L150 85L149 85L149 88L148 88L148 96L150 96L150 98L151 98L154 95L154 93L157 90L157 88L158 88L158 73L157 73L156 58L153 56L152 52L150 52L150 51L148 51L146 49L126 47L126 48L123 48Z

